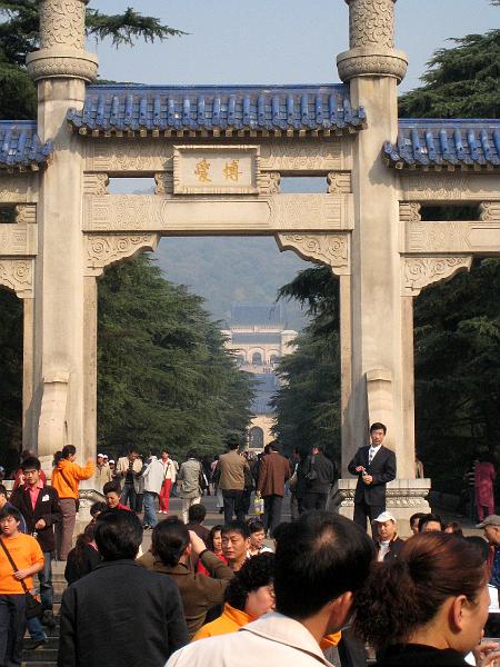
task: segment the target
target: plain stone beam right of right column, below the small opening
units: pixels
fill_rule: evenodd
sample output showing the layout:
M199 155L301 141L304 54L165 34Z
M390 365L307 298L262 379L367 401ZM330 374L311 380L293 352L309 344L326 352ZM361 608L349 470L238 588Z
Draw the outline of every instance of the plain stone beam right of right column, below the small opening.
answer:
M407 222L402 252L500 255L500 219L498 222Z

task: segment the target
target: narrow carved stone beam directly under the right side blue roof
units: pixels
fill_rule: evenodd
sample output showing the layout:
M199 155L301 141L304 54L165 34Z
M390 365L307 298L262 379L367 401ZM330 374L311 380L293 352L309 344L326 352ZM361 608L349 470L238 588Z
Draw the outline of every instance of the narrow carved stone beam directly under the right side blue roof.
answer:
M401 199L427 203L500 201L498 173L439 171L400 177Z

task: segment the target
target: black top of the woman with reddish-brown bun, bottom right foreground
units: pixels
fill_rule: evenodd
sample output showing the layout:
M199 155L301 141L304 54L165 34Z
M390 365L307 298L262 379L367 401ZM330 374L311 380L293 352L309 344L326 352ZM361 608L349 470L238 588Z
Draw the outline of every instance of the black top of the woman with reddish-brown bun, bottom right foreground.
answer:
M422 644L389 646L376 667L467 667L462 654Z

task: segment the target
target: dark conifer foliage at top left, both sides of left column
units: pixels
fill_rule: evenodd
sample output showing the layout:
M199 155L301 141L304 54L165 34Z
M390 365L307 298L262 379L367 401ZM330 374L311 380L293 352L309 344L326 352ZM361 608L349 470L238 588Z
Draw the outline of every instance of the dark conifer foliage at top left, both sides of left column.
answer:
M39 47L38 0L0 0L0 120L37 117L37 88L26 71L28 53ZM143 17L130 7L120 14L87 9L87 34L111 39L116 47L133 46L139 39L152 42L186 34Z

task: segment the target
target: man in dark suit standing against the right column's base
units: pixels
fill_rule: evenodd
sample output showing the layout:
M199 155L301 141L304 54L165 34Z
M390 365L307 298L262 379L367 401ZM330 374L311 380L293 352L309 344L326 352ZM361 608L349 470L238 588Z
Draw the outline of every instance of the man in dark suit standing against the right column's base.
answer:
M371 445L360 447L349 464L349 472L358 475L354 494L354 522L367 529L367 517L373 521L386 511L386 485L396 478L396 456L382 445L387 427L377 421L370 427ZM377 538L377 524L372 526Z

